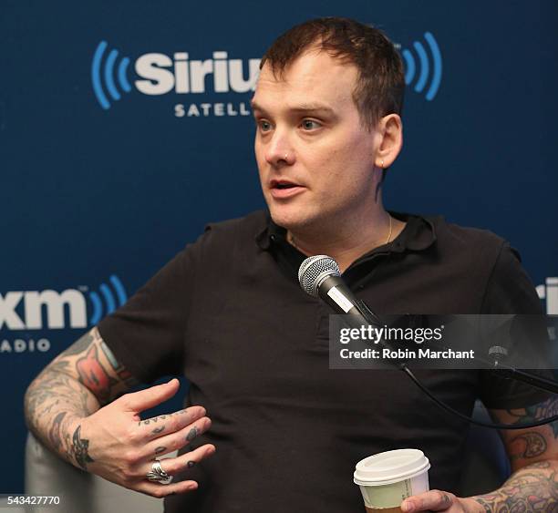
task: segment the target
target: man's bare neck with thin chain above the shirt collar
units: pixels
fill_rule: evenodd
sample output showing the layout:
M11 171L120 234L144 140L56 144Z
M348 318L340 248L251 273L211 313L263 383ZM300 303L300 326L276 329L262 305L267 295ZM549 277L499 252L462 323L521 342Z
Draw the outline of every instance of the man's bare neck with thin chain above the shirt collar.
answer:
M307 256L331 256L341 272L345 272L358 257L393 241L405 227L405 223L393 219L384 209L360 221L353 220L346 226L337 224L330 230L289 230L287 241Z

